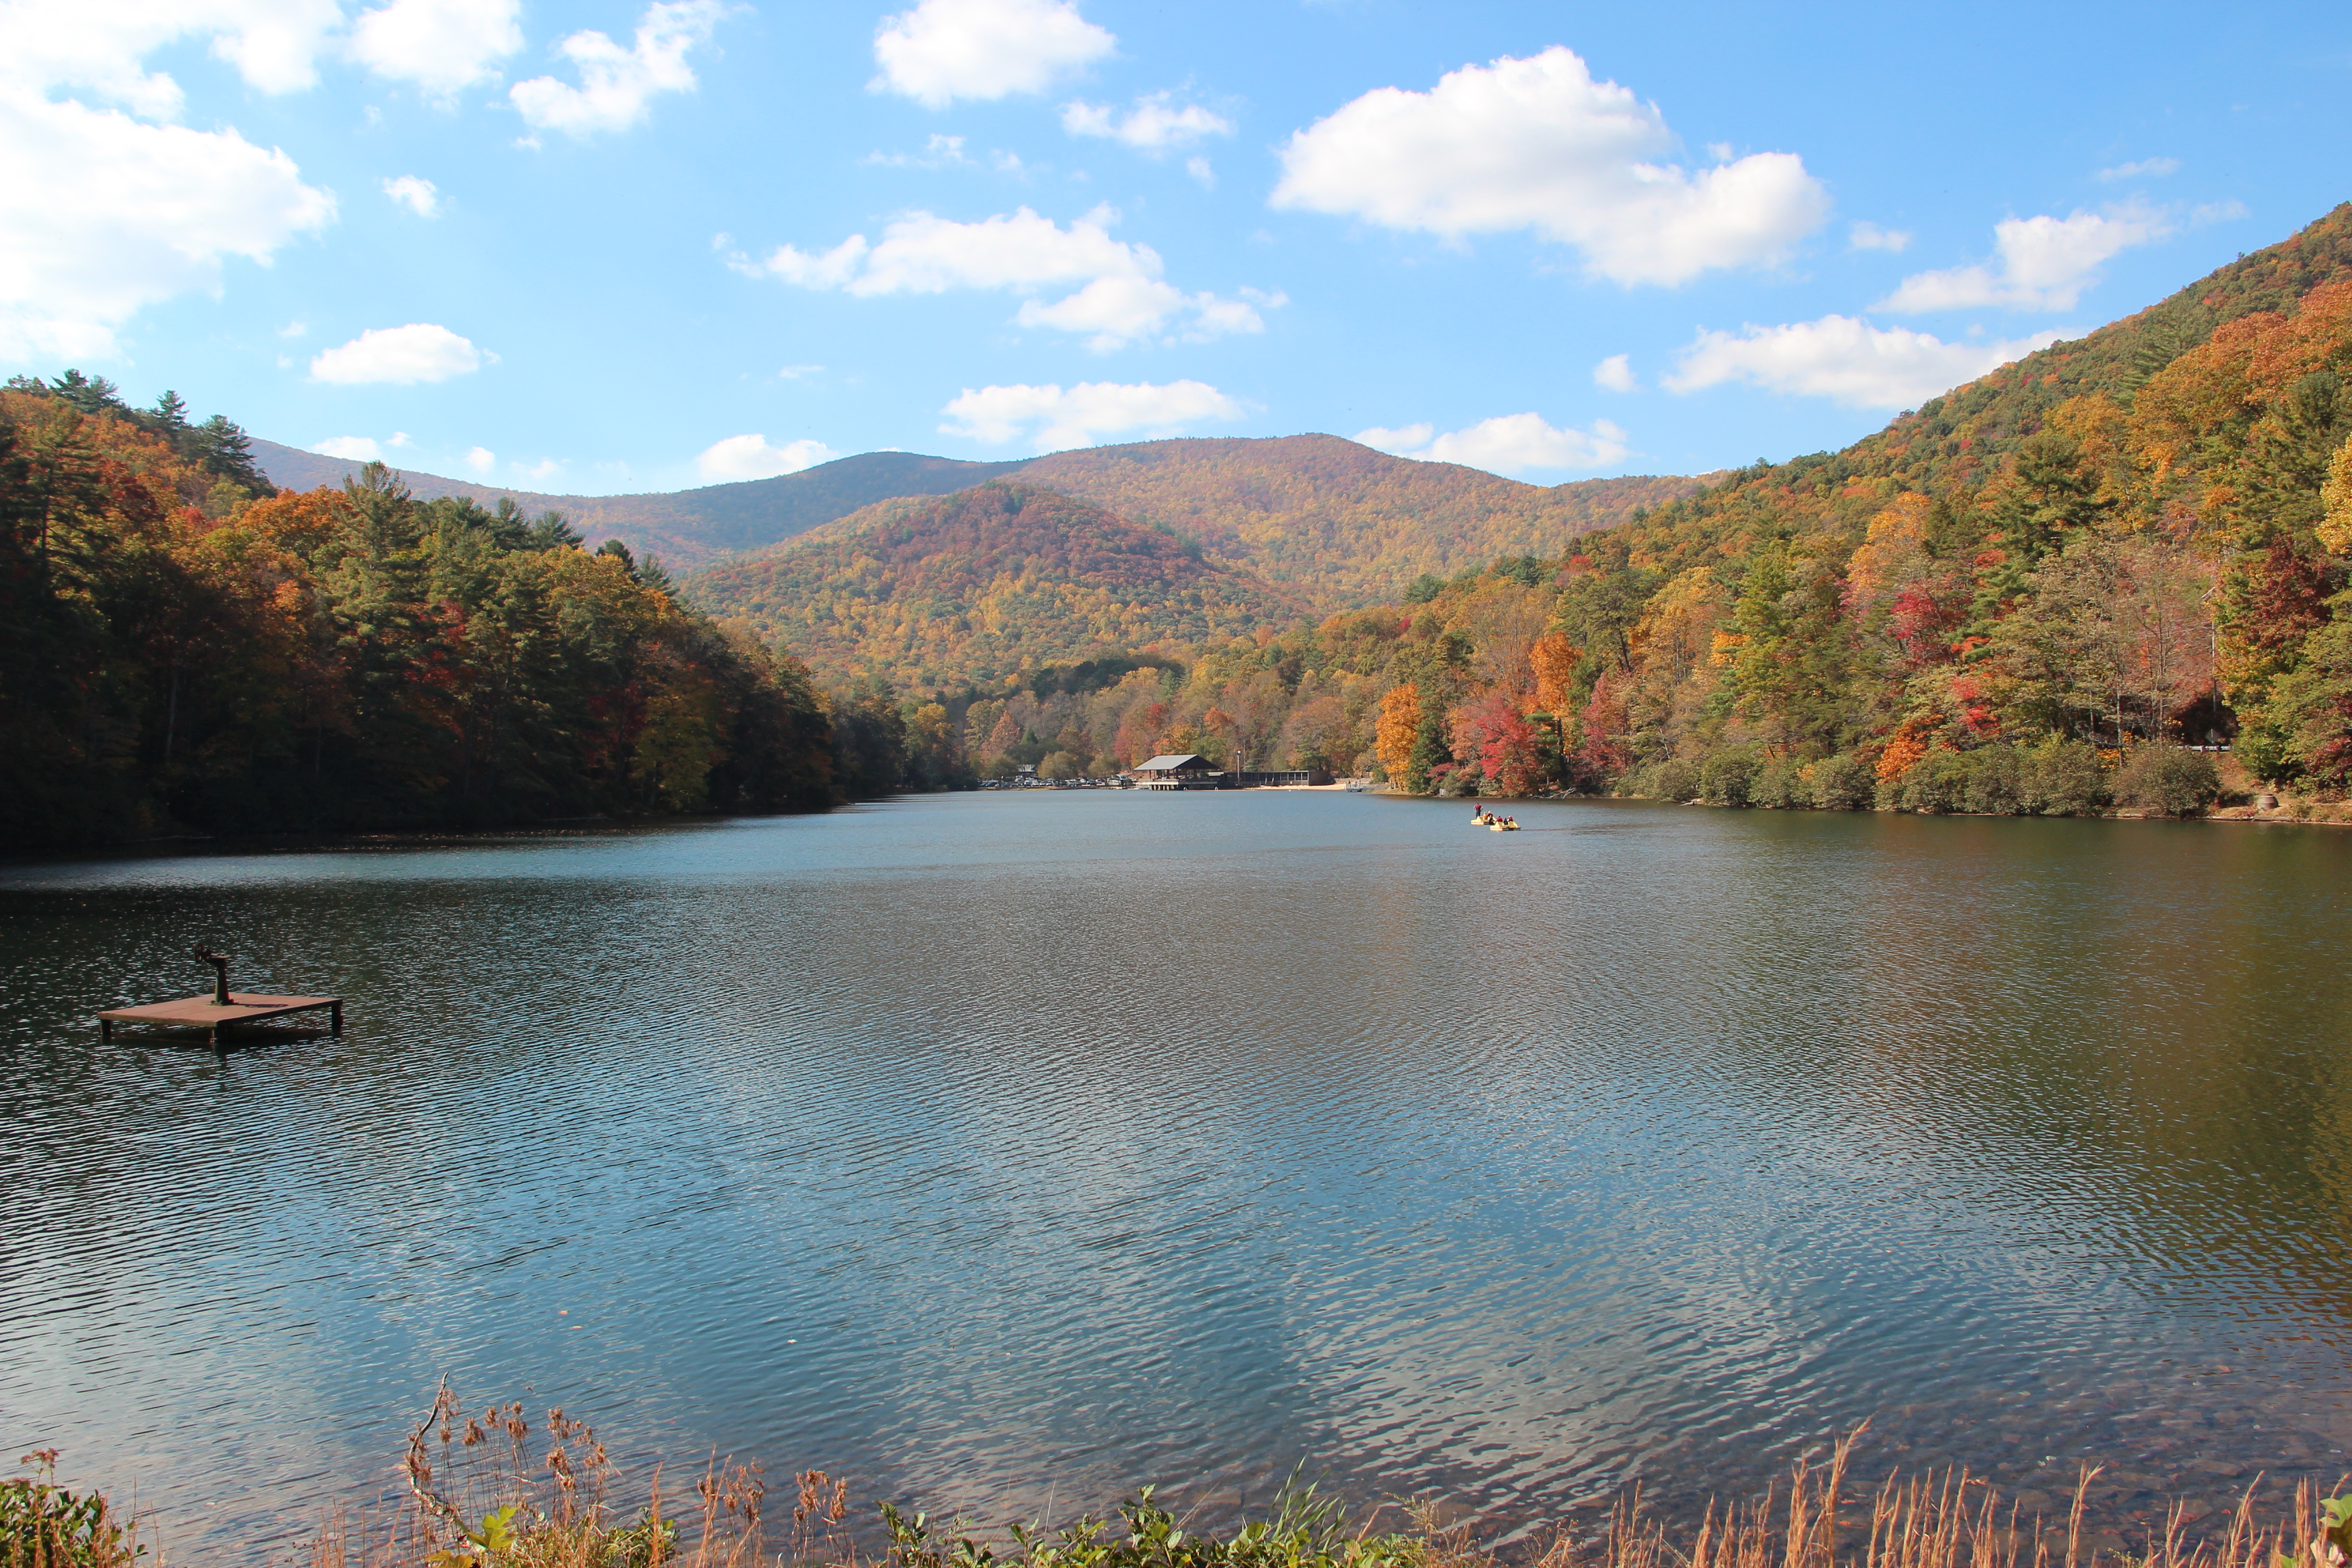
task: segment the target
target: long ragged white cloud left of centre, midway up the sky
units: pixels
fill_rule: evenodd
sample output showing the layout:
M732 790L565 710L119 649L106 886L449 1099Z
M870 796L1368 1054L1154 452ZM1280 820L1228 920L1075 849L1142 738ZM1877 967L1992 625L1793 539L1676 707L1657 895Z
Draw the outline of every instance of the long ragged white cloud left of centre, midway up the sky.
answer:
M1164 331L1221 336L1263 331L1265 320L1249 303L1284 303L1277 294L1218 299L1185 294L1162 277L1160 252L1110 237L1110 207L1061 228L1028 207L981 223L955 223L929 212L910 212L882 230L880 244L849 235L828 252L779 244L764 259L729 256L727 266L748 277L779 277L802 289L844 289L856 296L946 294L948 289L1011 289L1035 294L1080 284L1058 301L1028 299L1014 317L1021 327L1087 334L1096 353L1141 343Z

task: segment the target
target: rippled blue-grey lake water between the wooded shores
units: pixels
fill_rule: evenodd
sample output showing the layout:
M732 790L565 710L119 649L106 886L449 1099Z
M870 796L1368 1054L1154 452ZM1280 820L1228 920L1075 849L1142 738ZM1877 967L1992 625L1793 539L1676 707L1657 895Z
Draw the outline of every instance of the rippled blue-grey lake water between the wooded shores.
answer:
M2352 1441L2352 835L1348 795L0 870L0 1443L292 1556L447 1373L981 1519ZM341 1039L99 1044L205 985Z

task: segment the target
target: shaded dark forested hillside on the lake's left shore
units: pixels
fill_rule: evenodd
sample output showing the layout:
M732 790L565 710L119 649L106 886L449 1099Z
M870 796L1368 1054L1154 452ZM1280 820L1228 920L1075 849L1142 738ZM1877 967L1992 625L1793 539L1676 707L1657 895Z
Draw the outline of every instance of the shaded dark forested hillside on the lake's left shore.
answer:
M555 515L376 468L266 494L228 421L0 393L0 842L828 806L896 712ZM880 769L880 776L873 776Z

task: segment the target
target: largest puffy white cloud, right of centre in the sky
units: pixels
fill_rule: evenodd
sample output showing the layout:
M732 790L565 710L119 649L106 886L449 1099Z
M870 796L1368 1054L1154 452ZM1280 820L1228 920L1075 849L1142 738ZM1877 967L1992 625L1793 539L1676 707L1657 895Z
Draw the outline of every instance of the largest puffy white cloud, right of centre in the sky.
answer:
M1524 228L1623 284L1762 266L1830 216L1795 153L1691 172L1658 162L1672 146L1653 103L1555 45L1367 92L1289 139L1270 200L1446 240Z

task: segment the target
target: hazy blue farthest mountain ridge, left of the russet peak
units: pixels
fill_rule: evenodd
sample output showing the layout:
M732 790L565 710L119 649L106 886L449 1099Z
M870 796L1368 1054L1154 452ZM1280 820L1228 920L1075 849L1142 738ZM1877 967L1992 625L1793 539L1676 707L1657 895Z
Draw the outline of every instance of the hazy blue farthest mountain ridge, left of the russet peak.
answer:
M362 468L348 458L327 458L263 440L254 442L254 461L280 489L341 484ZM482 505L496 505L499 496L513 496L524 512L562 512L572 527L588 536L588 543L619 538L640 555L652 552L673 567L694 569L736 550L757 550L793 538L875 501L943 496L1018 468L1021 463L964 463L915 451L866 451L774 480L741 480L647 496L550 496L405 468L400 477L426 498L468 496Z

